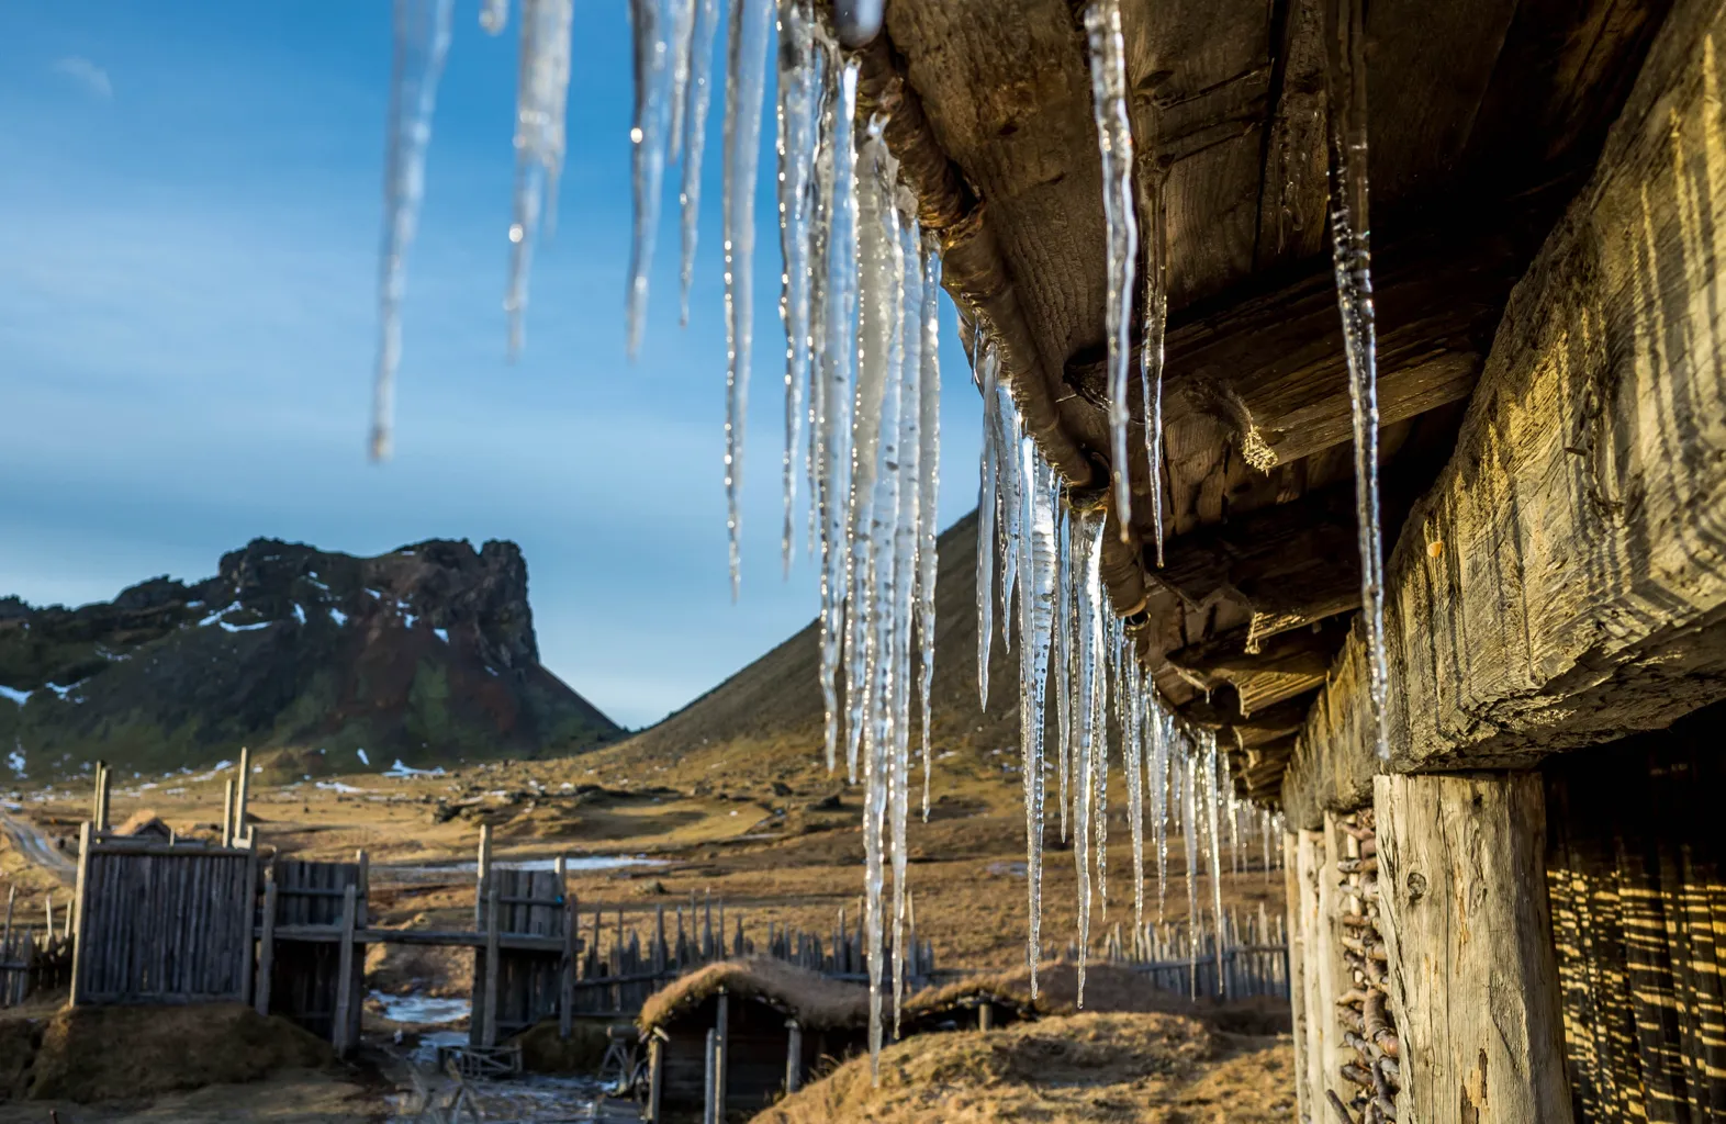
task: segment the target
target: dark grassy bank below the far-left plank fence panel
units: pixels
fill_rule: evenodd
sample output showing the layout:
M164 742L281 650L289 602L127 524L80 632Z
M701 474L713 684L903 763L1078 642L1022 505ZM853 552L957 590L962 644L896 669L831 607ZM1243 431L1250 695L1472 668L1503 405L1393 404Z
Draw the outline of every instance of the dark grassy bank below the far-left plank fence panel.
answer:
M0 1048L3 1053L3 1048ZM238 1003L64 1008L41 1031L33 1100L131 1100L331 1062L330 1046Z

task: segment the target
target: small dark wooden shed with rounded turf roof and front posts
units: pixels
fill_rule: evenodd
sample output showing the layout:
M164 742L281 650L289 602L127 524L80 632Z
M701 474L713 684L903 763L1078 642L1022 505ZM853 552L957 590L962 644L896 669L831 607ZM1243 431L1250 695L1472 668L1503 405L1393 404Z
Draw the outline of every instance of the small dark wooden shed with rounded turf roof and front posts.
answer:
M778 960L721 960L640 1013L647 1119L749 1117L868 1043L868 991Z

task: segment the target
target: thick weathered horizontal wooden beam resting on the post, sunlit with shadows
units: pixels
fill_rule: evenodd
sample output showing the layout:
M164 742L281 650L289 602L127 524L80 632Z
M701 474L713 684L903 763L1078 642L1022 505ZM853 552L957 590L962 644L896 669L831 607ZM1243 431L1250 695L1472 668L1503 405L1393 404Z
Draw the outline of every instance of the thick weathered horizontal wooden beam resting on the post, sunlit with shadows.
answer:
M1389 559L1388 770L1512 765L1726 696L1726 3L1679 0L1517 285L1450 464ZM1282 786L1370 791L1345 644Z

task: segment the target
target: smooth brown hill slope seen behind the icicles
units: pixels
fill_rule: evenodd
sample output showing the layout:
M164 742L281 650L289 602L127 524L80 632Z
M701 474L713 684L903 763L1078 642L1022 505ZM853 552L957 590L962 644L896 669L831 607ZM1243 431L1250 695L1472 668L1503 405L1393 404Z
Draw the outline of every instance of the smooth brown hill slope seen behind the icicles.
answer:
M999 770L999 763L1017 763L1017 756L994 751L1011 748L1017 755L1018 654L1005 651L996 609L986 715L977 704L977 515L949 527L937 551L934 749L972 767ZM913 746L918 737L913 727ZM825 765L816 768L822 746L820 627L811 622L689 706L608 748L595 761L654 763L668 770L668 780L708 775L718 786L744 789L770 780L813 779L825 772ZM996 760L984 760L991 756ZM704 772L709 768L716 768L716 775ZM1018 784L1017 774L1013 784Z

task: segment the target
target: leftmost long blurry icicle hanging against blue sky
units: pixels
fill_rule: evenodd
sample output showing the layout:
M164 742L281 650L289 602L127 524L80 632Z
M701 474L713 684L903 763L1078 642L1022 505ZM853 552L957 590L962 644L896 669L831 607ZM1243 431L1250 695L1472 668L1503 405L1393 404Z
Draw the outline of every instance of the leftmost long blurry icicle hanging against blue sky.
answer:
M395 0L395 59L390 76L388 162L383 174L383 254L378 276L378 366L371 397L371 459L390 456L395 369L402 361L402 299L407 247L425 197L426 145L437 83L449 54L452 0Z

